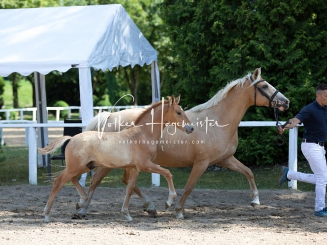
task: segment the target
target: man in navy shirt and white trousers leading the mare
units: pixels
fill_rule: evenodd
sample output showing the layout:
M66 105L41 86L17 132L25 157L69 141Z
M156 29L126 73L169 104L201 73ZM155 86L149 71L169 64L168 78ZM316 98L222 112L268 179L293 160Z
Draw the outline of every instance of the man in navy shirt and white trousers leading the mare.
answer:
M277 186L280 188L285 181L298 180L315 184L315 215L327 216L325 207L325 194L327 185L327 165L325 158L324 142L327 135L327 84L319 84L316 87L316 99L311 104L303 107L300 112L289 121L285 128L278 127L278 133L282 134L285 129L294 128L303 123L301 151L314 174L305 174L292 171L283 166Z

